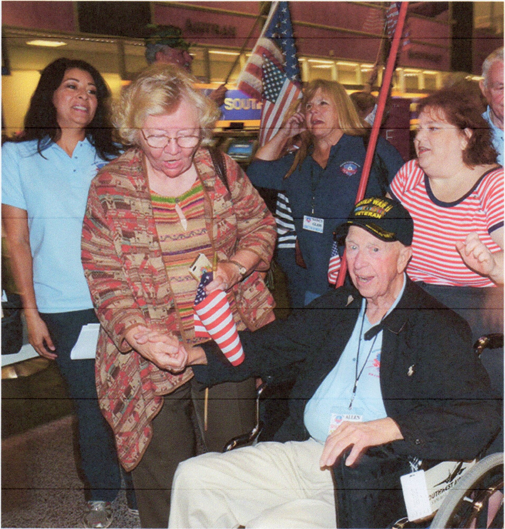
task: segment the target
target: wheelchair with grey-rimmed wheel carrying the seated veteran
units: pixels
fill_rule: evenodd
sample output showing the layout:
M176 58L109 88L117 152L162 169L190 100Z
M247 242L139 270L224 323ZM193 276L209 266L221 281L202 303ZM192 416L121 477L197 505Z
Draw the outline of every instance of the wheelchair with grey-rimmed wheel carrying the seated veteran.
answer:
M503 347L503 334L482 336L474 344L474 351L480 357L485 349ZM271 383L271 377L265 380L256 393L256 424L247 434L234 437L223 449L233 450L246 444L254 443L262 430L260 420L260 399L265 388ZM503 435L500 432L499 435ZM401 492L400 492L401 495ZM399 499L403 501L403 499ZM337 504L338 505L338 504ZM421 522L409 522L407 518L390 523L392 529L444 529L467 527L469 529L492 529L503 527L503 452L492 453L479 460L468 470L457 488L448 492L442 505L429 523L429 517ZM429 525L428 525L429 524ZM339 527L354 527L339 519ZM374 525L374 527L378 527Z

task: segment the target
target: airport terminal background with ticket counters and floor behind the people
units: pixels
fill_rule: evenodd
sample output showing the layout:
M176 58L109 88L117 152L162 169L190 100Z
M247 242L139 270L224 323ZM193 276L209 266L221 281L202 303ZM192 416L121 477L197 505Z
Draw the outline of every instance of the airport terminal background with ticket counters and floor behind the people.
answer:
M68 57L91 63L117 98L147 66L146 24L173 24L191 43L192 73L203 89L221 85L238 56L215 138L246 167L257 145L261 103L236 90L234 81L259 36L256 28L239 53L263 4L2 2L3 138L22 129L40 71L51 61ZM291 2L302 81L338 80L349 94L363 89L377 56L386 4ZM484 58L503 45L503 2L410 4L408 40L393 75L393 104L382 131L406 160L412 158L416 101L451 78L469 79L478 89ZM380 71L379 86L381 76ZM274 295L286 306L284 278L277 272L275 279ZM2 287L15 290L3 239ZM285 315L282 309L278 313ZM26 353L26 336L23 343ZM80 526L84 485L74 457L71 404L56 365L23 358L2 357L2 526ZM114 526L140 527L124 494L114 503L114 516Z

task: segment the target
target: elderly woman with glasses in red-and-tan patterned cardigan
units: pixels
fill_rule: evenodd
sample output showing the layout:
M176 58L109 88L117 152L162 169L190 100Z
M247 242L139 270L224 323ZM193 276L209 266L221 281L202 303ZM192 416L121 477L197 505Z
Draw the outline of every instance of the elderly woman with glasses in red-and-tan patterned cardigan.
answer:
M199 253L211 262L217 255L207 291L226 291L238 330L274 319L259 271L269 268L275 221L233 160L224 157L218 176L204 147L218 112L193 82L162 65L124 90L115 125L131 149L91 183L82 230L82 264L102 324L100 407L123 466L133 469L143 527L168 525L173 473L195 454L192 404L208 450L221 451L253 422L254 380L210 389L203 431L203 394L191 369L164 369L164 335L185 347L205 341L195 338L191 263Z

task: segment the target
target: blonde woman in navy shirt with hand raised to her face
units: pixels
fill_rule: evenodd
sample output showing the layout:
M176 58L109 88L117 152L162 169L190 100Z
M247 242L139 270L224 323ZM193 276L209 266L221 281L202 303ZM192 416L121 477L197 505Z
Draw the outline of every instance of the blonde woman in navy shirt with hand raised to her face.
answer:
M247 169L255 186L277 189L289 199L307 267L303 284L296 287L305 305L329 288L333 230L354 207L366 154L365 132L342 85L311 81L304 89L299 112L256 152L256 160ZM285 145L298 134L301 147L280 158ZM400 153L382 138L376 153L379 156L375 156L365 196L385 195L403 165ZM293 266L297 265L293 262ZM289 270L285 271L289 279Z

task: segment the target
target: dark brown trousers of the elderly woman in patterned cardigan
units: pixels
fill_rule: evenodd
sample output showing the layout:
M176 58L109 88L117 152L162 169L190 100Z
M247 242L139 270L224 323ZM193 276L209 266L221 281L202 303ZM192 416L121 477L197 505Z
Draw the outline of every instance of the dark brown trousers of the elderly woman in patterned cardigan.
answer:
M204 388L195 379L164 396L152 422L151 442L132 471L142 527L168 526L173 474L181 461L196 454L191 408L197 412L206 449L220 452L232 437L254 426L255 393L254 379L210 388L207 432L203 432Z

